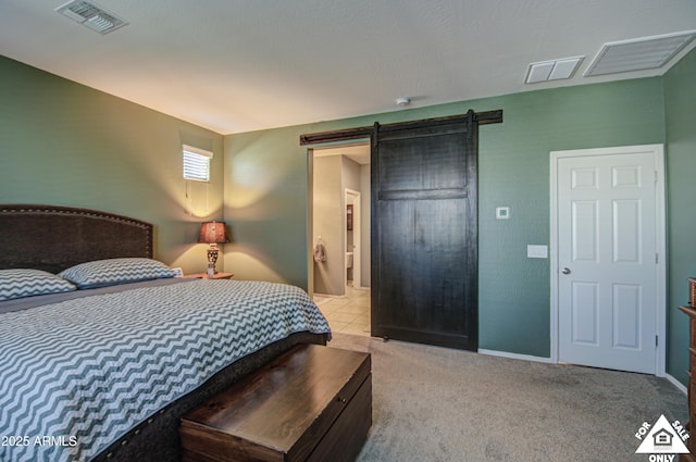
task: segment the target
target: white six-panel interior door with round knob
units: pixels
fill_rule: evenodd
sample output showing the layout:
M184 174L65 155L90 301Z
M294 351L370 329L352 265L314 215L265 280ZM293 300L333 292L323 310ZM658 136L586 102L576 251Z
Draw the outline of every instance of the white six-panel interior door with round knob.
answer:
M658 372L661 147L648 148L556 153L560 362Z

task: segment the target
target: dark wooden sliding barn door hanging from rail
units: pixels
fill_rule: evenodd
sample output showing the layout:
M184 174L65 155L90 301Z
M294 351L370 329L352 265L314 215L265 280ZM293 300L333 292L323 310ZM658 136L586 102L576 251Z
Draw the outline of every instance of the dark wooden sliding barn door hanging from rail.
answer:
M375 124L373 336L477 348L473 117Z

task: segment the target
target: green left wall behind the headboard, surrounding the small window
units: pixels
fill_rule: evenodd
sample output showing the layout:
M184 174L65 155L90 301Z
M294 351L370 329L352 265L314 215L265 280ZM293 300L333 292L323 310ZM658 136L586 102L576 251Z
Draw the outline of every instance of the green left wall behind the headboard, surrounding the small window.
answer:
M221 135L4 57L0 104L0 202L144 220L156 225L157 258L206 269L204 246L191 242L200 221L222 217ZM211 184L191 184L190 200L182 142L216 154Z

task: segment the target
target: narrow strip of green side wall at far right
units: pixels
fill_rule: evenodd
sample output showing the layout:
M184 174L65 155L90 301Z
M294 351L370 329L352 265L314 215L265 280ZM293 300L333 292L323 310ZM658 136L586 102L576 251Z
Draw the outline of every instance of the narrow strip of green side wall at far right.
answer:
M687 277L696 277L696 51L664 79L668 184L668 372L687 383L688 322L678 307L688 302Z

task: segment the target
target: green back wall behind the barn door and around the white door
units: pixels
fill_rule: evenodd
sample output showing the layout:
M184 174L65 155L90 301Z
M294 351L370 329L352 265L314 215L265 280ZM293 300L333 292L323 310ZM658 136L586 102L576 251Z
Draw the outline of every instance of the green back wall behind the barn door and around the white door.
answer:
M530 91L225 137L225 218L239 242L225 270L307 287L307 148L301 134L502 109L480 134L480 347L550 355L549 152L664 142L659 77ZM252 173L246 187L243 172ZM261 186L263 183L263 186ZM511 220L495 220L509 205Z

